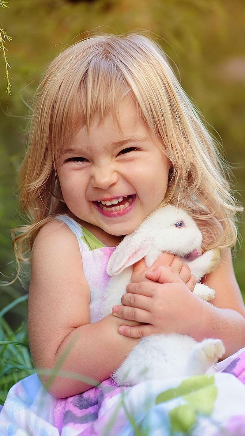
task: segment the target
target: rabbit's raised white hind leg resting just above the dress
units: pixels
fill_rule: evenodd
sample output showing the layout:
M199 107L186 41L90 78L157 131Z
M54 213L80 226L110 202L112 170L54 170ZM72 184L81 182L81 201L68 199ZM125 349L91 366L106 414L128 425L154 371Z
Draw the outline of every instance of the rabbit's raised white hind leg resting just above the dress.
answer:
M195 344L186 364L188 376L205 374L225 353L220 339L204 339ZM212 371L214 372L214 371Z

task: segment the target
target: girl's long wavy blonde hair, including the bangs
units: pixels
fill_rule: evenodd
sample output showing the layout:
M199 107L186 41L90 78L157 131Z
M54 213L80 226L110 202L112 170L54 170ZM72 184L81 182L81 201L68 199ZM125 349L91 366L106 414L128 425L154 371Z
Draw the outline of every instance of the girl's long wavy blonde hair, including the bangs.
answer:
M29 148L20 169L20 202L30 224L16 229L17 259L29 258L47 221L69 213L56 177L60 150L81 126L89 128L94 116L116 114L125 96L133 99L171 161L162 204L189 211L208 235L205 249L234 245L236 203L225 164L166 55L143 35L103 34L58 55L37 90Z

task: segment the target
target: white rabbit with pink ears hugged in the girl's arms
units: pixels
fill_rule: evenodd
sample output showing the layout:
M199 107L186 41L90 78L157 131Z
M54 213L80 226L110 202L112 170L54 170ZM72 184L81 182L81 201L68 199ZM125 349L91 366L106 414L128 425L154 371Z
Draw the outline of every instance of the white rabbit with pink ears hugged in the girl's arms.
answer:
M130 283L132 265L145 258L150 267L161 252L181 257L199 281L215 269L219 250L205 252L192 261L188 255L201 246L202 235L195 221L182 209L167 205L158 208L145 218L139 227L112 253L107 264L107 274L112 276L105 293L102 315L111 313L115 304ZM197 283L193 291L204 300L212 300L215 291ZM118 385L135 385L148 379L175 378L205 374L214 371L213 364L225 352L220 339L205 339L197 343L187 335L158 334L144 337L128 354L112 377Z

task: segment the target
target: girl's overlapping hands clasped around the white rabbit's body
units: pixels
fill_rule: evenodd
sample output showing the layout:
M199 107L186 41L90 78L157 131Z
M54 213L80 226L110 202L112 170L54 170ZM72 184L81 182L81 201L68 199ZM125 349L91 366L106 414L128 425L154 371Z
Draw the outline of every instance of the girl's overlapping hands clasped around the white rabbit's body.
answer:
M154 266L157 263L159 259ZM168 266L145 269L142 261L138 262L132 274L132 281L137 283L127 286L127 293L121 299L123 306L114 306L112 312L117 317L143 324L137 327L122 325L119 328L121 334L128 337L170 332L191 335L191 331L197 329L195 320L200 320L201 300L190 292L196 280L183 265L176 256L172 256Z

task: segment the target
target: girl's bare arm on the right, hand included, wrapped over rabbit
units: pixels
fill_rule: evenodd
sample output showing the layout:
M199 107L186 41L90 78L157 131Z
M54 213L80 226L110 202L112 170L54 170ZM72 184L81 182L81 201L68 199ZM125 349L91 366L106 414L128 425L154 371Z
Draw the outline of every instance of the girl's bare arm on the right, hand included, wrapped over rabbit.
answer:
M171 268L161 266L162 263L160 257L151 268L144 268L142 261L134 267L132 281L139 283L127 286L122 297L124 306L117 306L114 315L148 324L130 327L122 321L119 331L123 329L128 337L175 332L188 334L197 341L220 338L226 350L223 358L245 347L245 307L230 250L226 250L218 267L205 278L205 283L215 290L212 303L190 293ZM150 269L154 272L149 275ZM150 278L161 283L149 285Z

